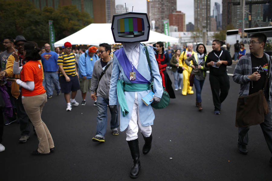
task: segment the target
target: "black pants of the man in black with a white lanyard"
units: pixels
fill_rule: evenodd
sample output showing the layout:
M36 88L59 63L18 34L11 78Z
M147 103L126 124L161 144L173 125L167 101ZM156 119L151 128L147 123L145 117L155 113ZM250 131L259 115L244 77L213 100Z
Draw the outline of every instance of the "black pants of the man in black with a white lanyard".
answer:
M229 90L229 77L227 74L217 76L209 75L209 81L212 89L212 100L215 111L221 110L221 103L225 100Z

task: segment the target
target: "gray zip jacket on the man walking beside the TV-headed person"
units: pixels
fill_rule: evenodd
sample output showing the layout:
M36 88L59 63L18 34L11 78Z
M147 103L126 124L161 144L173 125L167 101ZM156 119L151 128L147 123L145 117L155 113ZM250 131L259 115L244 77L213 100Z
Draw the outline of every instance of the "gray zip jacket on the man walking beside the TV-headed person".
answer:
M91 88L90 88L91 94L94 94L94 92L96 91L96 86L97 86L98 80L99 80L100 75L103 71L100 60L101 59L98 59L93 65L92 82L91 82ZM112 62L112 60L113 59L111 57L111 59L110 59L110 61L108 61L107 65L110 64ZM110 83L111 83L111 75L112 75L112 65L110 65L108 67L108 69L106 70L106 73L102 76L102 78L98 84L96 96L108 99L109 87L110 87Z

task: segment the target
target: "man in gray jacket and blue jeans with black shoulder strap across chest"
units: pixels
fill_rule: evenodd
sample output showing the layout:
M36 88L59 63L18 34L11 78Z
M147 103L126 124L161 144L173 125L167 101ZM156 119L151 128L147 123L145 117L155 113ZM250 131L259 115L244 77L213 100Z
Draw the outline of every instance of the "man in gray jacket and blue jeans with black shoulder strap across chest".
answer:
M96 118L96 135L92 138L94 142L105 142L107 127L107 109L109 105L109 90L112 75L112 57L110 56L111 46L108 43L99 45L100 59L93 65L91 98L97 100L97 118ZM102 71L105 74L102 75ZM102 75L102 76L101 76ZM99 81L100 79L100 81ZM96 90L97 87L97 90ZM113 135L119 135L118 132L118 106L112 108L109 106L111 113L111 130Z

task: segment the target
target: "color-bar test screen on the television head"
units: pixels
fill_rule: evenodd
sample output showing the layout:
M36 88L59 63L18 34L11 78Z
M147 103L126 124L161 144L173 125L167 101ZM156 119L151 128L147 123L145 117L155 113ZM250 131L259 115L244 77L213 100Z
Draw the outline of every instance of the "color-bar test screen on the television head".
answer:
M118 37L135 38L144 35L144 19L128 17L117 20Z

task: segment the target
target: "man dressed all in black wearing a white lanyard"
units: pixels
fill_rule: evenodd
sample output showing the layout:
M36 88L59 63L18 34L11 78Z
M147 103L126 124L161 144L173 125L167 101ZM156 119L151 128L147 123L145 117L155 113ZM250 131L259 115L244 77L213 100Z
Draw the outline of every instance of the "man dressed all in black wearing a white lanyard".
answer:
M232 57L220 45L220 40L212 41L213 50L208 54L205 62L205 66L210 68L209 81L212 90L214 114L220 114L221 104L228 95L229 77L227 66L232 65Z

